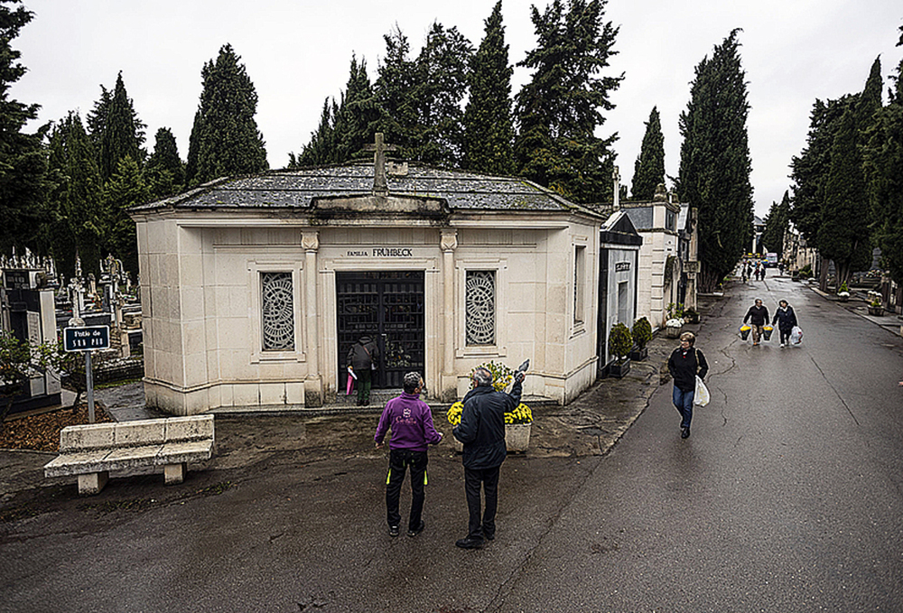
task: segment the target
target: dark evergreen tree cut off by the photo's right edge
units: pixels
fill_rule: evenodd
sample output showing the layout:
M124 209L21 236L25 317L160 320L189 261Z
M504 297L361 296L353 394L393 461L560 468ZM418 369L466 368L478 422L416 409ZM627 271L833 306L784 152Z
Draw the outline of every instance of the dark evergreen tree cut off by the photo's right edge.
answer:
M903 285L903 60L894 81L888 106L879 111L868 132L864 157L872 236L880 247L882 266Z

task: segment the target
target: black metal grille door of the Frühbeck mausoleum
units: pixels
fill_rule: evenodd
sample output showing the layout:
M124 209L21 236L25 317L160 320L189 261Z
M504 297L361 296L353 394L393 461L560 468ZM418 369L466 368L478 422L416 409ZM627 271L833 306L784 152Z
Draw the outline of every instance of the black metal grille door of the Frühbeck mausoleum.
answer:
M339 385L344 389L349 348L376 339L374 387L401 387L405 373L424 373L424 272L336 273Z

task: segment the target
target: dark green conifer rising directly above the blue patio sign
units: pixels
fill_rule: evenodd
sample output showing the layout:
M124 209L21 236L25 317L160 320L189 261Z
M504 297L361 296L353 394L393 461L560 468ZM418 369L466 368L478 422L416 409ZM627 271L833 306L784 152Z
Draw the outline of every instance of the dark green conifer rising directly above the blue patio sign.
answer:
M103 181L94 145L77 113L70 112L53 127L50 168L55 178L49 195L50 234L57 268L68 276L75 274L79 255L85 272L97 272L105 223Z

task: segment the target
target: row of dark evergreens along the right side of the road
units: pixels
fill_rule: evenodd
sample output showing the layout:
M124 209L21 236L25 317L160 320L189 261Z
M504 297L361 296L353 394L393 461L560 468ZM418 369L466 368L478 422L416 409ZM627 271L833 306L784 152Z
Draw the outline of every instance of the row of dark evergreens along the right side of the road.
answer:
M897 46L903 46L903 26ZM882 269L903 283L903 60L891 74L883 103L880 57L861 91L816 99L805 147L791 163L791 189L773 203L763 243L782 251L792 223L822 260L836 287L867 271L880 248Z

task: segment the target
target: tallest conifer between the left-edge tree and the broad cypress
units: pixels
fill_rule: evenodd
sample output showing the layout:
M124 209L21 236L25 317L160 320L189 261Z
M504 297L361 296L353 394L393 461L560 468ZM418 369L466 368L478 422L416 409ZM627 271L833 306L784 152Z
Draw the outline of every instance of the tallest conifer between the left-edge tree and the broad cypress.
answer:
M106 105L106 108L102 108ZM100 135L95 135L92 140L98 142L98 168L100 176L107 181L124 157L129 156L135 162L144 161L144 153L141 150L144 144L144 127L146 127L135 113L132 99L126 93L126 84L122 80L122 72L116 76L116 86L108 104L103 101L95 106L97 115L92 121L99 121L101 113L103 123L98 125Z

